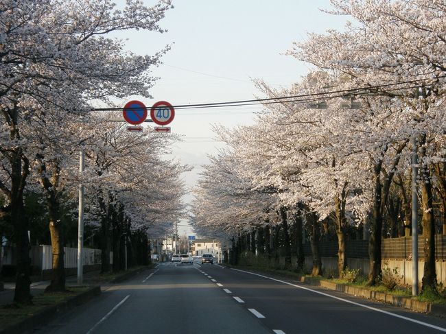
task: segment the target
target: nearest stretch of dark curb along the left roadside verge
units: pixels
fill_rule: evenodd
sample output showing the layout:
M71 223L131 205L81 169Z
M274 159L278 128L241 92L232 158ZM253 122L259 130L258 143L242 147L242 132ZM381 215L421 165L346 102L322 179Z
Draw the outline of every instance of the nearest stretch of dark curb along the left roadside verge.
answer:
M50 320L53 320L60 315L60 313L63 313L64 311L67 311L75 306L82 305L95 296L99 296L99 294L101 294L101 287L99 287L99 285L91 287L90 289L82 292L82 294L68 298L67 300L64 300L56 305L45 307L45 309L42 311L39 311L38 313L31 315L20 322L16 322L15 324L5 327L4 329L0 329L0 333L18 334L32 332L36 326L46 324Z

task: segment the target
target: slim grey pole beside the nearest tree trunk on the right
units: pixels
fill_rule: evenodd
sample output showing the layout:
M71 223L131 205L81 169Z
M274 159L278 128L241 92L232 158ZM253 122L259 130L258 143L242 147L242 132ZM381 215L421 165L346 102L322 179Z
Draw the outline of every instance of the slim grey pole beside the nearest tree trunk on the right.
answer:
M412 135L412 296L418 296L418 196L416 176L418 175L418 155L416 135Z

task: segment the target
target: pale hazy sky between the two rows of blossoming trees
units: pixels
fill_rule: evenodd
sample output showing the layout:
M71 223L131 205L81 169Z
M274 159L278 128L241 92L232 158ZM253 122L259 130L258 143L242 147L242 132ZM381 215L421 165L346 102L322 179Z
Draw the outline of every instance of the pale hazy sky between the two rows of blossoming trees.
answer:
M118 4L124 1L117 1ZM154 0L145 0L153 5ZM307 34L342 29L344 16L320 11L330 9L329 0L174 0L174 9L160 22L167 32L128 32L128 50L153 54L165 45L171 49L163 64L152 71L159 77L150 93L152 100L140 99L145 106L157 101L172 105L226 102L262 97L253 80L270 86L288 87L300 81L309 65L286 56L293 42ZM126 101L123 101L123 106ZM229 128L253 123L260 106L177 110L169 124L183 142L172 147L169 158L193 167L183 177L189 189L198 180L207 154L215 154L222 143L215 141L213 124ZM192 195L185 198L190 202ZM181 225L187 225L182 222ZM179 235L194 235L191 228L178 226Z

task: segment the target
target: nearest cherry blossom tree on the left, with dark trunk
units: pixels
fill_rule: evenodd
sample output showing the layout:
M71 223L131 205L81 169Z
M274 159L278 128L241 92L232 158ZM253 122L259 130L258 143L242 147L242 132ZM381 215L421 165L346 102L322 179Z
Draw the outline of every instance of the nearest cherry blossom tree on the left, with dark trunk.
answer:
M153 80L145 72L167 48L154 56L124 53L123 42L106 38L117 30L163 32L158 22L170 1L152 8L128 0L124 10L108 0L5 0L1 3L0 71L2 141L6 163L0 189L8 200L18 249L14 300L30 303L30 259L23 191L30 174L21 126L34 110L87 112L89 99L130 94L148 96Z

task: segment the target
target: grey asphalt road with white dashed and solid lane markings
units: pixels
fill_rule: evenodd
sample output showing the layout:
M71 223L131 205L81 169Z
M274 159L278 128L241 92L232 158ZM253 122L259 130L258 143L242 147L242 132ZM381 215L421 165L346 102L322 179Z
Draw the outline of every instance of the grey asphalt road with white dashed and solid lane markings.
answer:
M446 320L220 265L161 263L34 333L445 333Z

